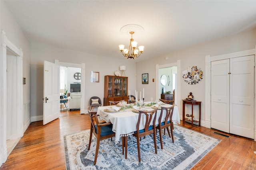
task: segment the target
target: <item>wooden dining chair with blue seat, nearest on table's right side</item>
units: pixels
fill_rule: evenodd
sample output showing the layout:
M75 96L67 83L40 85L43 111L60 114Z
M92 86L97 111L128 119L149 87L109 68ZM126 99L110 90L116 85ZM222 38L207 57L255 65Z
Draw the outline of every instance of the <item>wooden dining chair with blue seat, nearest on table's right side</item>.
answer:
M140 138L145 137L146 135L153 134L154 135L154 147L155 152L157 154L157 146L156 146L156 111L157 109L154 109L152 111L142 111L139 110L139 117L136 125L136 131L134 131L133 136L137 138L137 148L138 148L138 158L140 162ZM143 118L142 118L143 117ZM145 126L144 129L140 128L140 121L145 120ZM151 120L153 119L153 124L150 125ZM124 147L125 147L125 158L127 159L127 136L122 137L122 148L123 148L123 154L124 154Z

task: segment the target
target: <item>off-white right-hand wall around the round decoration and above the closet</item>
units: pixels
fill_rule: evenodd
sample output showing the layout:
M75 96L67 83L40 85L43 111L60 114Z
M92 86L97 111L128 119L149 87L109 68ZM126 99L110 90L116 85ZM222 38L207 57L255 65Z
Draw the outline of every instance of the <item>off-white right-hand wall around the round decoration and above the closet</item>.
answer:
M211 55L223 55L227 53L233 53L237 51L244 51L248 49L254 49L256 45L256 29L238 33L229 37L216 39L208 43L196 45L186 49L181 49L168 53L164 56L159 56L147 61L143 61L136 64L137 67L137 88L145 88L145 98L148 100L150 96L156 96L156 83L152 82L152 78L155 78L156 64L164 65L168 63L176 63L177 60L181 60L181 71L185 70L188 66L198 66L204 72L205 70L205 56ZM168 57L168 60L165 60ZM141 84L141 74L148 73L149 83ZM182 73L180 73L182 75ZM189 92L192 92L195 100L201 101L201 120L205 119L205 81L202 81L196 85L189 85L184 82L182 76L178 77L181 82L180 96L184 99L188 96ZM182 106L182 101L180 106ZM194 108L194 113L197 113L198 108ZM182 113L182 107L180 108ZM186 109L187 111L187 109Z

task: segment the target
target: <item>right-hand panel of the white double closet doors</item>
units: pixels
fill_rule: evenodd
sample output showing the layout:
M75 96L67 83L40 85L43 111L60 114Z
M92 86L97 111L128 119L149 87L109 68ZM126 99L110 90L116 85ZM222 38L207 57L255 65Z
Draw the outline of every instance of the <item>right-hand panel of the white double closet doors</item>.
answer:
M230 59L230 133L254 139L254 55Z

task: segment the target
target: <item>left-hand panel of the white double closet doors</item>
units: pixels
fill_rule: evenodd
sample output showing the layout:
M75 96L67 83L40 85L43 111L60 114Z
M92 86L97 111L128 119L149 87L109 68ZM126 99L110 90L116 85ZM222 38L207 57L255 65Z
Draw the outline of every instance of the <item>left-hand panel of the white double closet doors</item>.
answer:
M229 133L229 59L211 64L211 127Z

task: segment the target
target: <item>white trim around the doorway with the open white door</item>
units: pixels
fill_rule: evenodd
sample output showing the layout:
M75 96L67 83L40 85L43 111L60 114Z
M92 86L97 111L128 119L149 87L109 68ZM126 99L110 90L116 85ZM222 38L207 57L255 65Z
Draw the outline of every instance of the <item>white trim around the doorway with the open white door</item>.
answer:
M74 64L74 63L64 63L59 60L55 60L55 64L59 66L67 66L67 67L78 67L81 68L81 101L80 101L80 114L85 114L87 108L85 108L85 63L82 64Z

